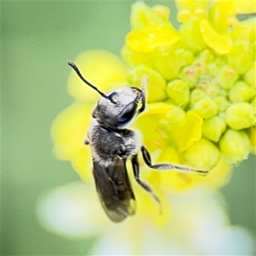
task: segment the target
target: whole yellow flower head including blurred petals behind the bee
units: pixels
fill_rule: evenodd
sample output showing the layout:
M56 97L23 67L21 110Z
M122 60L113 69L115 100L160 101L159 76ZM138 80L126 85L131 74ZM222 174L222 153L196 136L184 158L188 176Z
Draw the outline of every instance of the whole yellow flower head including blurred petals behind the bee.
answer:
M255 19L236 19L237 13L253 12L250 4L228 3L177 1L182 24L175 29L166 6L137 2L122 48L128 69L106 51L86 51L74 60L102 92L127 83L140 87L146 74L147 109L134 127L143 134L152 161L211 170L207 177L156 172L140 161L141 179L152 184L164 213L159 214L159 205L131 179L138 212L160 226L170 218L164 191L200 184L220 188L230 177L232 163L243 161L255 148ZM92 180L92 154L84 140L99 95L71 71L68 90L78 101L54 120L54 153L70 161L82 179Z

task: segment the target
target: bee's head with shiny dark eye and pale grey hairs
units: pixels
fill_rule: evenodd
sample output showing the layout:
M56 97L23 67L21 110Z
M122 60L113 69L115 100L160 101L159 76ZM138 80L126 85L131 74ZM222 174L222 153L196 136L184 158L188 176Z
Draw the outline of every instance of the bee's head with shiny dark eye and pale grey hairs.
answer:
M141 100L141 90L125 86L108 93L107 96L111 100L102 97L93 111L93 118L114 128L123 127L131 122Z

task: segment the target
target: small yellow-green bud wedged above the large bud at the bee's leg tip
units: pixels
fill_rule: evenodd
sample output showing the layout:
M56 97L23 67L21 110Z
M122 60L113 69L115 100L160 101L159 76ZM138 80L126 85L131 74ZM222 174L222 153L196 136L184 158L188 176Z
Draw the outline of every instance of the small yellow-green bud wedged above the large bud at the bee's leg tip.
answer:
M205 120L203 125L203 136L209 140L217 142L221 134L225 131L227 125L221 116L213 116Z

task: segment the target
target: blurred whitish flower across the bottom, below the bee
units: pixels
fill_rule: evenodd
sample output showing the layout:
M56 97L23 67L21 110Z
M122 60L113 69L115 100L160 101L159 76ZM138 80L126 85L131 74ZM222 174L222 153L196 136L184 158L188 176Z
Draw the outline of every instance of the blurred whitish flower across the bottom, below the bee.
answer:
M140 214L116 224L104 216L92 184L73 182L46 191L38 200L37 215L45 228L60 236L99 236L90 255L253 254L253 237L230 225L216 191L179 191L168 200L172 218L163 227Z

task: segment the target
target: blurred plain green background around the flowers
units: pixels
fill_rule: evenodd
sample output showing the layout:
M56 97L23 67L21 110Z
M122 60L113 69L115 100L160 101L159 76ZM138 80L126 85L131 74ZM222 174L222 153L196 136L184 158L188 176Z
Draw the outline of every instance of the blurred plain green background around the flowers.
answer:
M145 2L170 6L175 19L171 1ZM118 54L129 31L132 3L1 3L1 255L84 255L92 246L93 240L49 234L36 220L35 205L45 189L79 179L69 163L52 157L49 136L54 117L73 101L66 90L67 60L86 49ZM231 223L255 234L254 156L236 166L222 192Z

